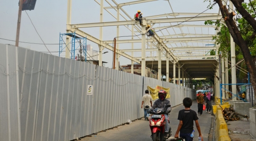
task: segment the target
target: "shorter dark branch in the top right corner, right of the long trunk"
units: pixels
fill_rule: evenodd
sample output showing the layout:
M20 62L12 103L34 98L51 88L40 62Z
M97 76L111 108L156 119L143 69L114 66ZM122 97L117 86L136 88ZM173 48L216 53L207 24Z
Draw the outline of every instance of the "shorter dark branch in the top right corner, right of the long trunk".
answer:
M253 27L256 31L256 20L248 13L248 11L242 6L243 0L230 0L234 6L238 9L238 12L247 20L247 22Z

